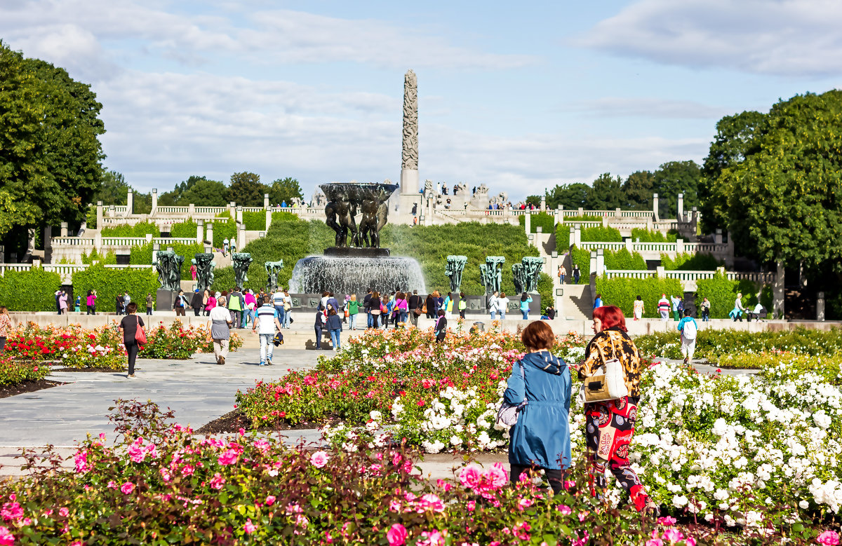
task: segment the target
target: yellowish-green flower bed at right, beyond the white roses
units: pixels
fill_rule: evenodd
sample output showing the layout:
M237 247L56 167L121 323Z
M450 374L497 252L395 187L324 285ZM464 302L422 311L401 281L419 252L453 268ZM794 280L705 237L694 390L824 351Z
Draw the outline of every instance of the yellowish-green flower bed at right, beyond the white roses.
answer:
M677 325L677 322L670 323ZM702 322L699 321L700 326ZM674 327L674 326L673 326ZM635 338L641 354L663 358L682 358L678 331L656 332ZM716 358L733 353L788 353L830 356L842 347L842 329L829 331L795 330L737 331L701 328L696 337L695 357Z

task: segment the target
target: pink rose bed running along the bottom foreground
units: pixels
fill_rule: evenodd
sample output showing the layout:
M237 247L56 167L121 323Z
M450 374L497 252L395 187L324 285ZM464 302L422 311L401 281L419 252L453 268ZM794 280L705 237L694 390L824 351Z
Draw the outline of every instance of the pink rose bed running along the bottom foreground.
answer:
M197 439L157 406L118 401L117 441L88 437L73 467L26 454L31 474L0 483L0 544L789 544L838 539L833 530L779 522L722 533L675 527L602 503L576 467L566 490L509 486L503 465L423 480L401 446L370 452L286 448L242 432ZM766 513L771 513L766 512ZM819 531L823 534L819 535ZM833 543L833 542L823 542Z

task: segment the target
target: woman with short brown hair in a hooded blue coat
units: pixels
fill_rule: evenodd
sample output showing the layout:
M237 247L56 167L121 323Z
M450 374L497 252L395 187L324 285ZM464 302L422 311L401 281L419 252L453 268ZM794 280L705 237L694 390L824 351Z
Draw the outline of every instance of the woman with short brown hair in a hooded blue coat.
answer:
M556 337L546 322L533 322L520 336L529 353L512 366L504 400L526 405L509 431L511 481L543 469L553 493L562 490L570 467L570 370L550 353Z

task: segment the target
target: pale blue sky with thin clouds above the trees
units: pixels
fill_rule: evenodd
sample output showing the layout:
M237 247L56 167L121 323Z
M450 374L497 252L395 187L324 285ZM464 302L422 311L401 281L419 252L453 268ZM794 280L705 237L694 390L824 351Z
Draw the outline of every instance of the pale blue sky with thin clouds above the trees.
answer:
M104 166L160 192L400 179L509 199L701 162L717 120L839 85L837 0L3 0L0 40L91 84Z

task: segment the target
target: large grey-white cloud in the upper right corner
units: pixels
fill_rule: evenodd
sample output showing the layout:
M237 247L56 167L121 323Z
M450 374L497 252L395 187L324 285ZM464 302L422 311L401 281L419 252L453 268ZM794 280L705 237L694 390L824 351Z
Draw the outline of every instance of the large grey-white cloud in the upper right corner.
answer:
M842 70L836 0L641 0L576 44L669 65L776 76Z

